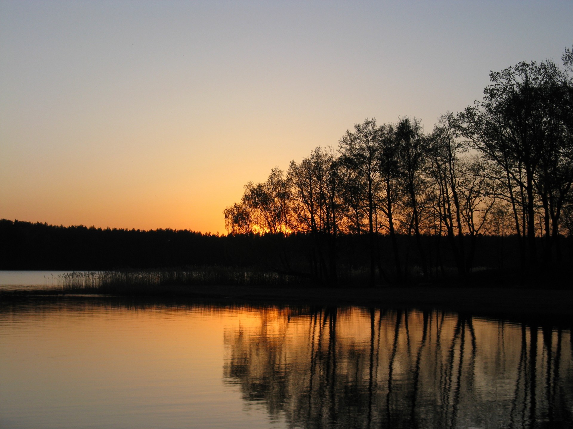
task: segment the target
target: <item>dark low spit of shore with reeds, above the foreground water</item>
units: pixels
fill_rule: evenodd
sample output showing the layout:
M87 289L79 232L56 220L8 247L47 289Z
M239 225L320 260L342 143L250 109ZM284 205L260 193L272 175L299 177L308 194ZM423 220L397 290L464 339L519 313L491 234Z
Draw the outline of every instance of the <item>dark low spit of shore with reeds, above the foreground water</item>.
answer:
M360 273L362 274L362 273ZM58 276L58 290L20 291L3 295L18 299L34 295L108 295L140 299L177 299L364 305L367 307L441 308L474 314L573 315L570 282L540 281L519 285L495 283L491 276L472 283L386 284L368 288L367 282L328 288L308 277L229 267L190 267L181 270L72 272ZM63 293L62 293L63 292Z

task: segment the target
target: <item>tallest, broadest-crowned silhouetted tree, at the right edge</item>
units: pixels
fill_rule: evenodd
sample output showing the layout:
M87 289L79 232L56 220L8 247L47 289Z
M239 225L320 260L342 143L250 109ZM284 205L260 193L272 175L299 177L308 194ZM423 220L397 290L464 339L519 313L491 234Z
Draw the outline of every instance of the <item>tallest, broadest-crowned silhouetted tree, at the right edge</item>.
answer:
M548 222L548 197L554 190L550 188L555 188L551 182L559 175L550 171L550 165L561 157L564 134L560 129L567 129L566 111L570 110L566 72L551 61L524 61L490 73L490 81L484 100L468 106L458 118L462 134L488 160L503 168L518 230L516 210L523 205L529 261L535 264L536 194L541 197ZM519 188L517 194L513 184ZM545 227L548 229L547 224Z

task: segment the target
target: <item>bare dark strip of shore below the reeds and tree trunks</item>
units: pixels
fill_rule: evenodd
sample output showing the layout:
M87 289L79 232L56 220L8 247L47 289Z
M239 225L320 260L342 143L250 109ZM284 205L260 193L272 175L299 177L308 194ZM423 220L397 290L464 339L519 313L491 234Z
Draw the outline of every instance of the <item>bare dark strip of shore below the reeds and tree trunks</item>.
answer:
M0 300L26 297L101 296L101 291L13 291L0 293ZM571 317L573 291L533 288L477 287L378 287L378 288L286 288L240 286L171 286L147 291L122 291L106 296L131 296L176 301L265 303L308 305L359 305L363 307L442 309L474 314Z

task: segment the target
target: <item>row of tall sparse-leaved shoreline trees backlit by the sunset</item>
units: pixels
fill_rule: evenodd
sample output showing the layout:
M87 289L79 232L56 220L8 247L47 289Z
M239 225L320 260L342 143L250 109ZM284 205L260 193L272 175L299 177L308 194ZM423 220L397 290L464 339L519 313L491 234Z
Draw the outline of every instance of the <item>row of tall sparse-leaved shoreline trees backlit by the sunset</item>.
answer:
M429 133L410 117L356 124L337 150L316 148L246 184L224 210L227 231L312 237L312 276L328 284L340 278L348 235L367 237L371 285L417 268L434 280L450 265L467 279L491 251L478 246L484 236L512 237L523 270L558 269L571 259L573 50L562 60L490 73L481 101Z

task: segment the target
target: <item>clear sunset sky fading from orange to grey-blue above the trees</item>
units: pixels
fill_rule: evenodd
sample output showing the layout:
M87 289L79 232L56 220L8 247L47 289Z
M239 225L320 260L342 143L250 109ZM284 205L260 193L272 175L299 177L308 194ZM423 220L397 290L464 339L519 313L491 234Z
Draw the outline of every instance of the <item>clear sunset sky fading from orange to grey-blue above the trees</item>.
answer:
M225 232L223 209L354 124L560 64L566 1L0 0L0 219Z

